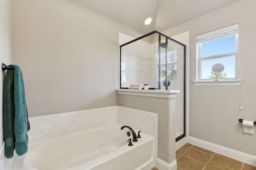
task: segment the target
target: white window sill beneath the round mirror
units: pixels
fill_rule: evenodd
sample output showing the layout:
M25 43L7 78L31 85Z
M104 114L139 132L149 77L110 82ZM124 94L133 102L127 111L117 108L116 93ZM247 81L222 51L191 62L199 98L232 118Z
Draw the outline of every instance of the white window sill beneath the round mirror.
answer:
M240 86L241 80L195 81L195 86Z

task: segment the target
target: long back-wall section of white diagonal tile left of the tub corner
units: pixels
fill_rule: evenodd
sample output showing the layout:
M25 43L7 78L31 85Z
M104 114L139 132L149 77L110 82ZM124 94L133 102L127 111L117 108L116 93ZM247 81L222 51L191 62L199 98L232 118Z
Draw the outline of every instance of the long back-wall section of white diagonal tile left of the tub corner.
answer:
M51 135L97 123L117 120L118 106L30 117L29 138Z

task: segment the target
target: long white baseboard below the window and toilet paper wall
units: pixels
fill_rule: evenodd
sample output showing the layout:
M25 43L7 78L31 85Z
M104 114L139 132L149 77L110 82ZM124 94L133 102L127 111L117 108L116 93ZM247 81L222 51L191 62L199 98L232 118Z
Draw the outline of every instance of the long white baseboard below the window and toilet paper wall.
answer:
M220 146L220 145L216 145L214 143L203 141L201 139L197 139L197 138L194 138L194 137L188 137L188 141L192 145L196 145L198 147L210 150L212 152L216 152L218 154L222 154L224 156L228 156L230 158L239 160L239 161L244 162L246 164L256 166L256 156L246 154L246 153L240 152L238 150L223 147L223 146Z

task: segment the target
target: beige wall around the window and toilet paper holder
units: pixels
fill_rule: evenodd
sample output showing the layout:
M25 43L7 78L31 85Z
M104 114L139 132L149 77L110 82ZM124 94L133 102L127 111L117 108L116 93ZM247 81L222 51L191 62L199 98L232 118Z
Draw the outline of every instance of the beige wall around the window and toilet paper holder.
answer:
M172 36L189 31L190 115L189 133L204 141L256 156L256 135L242 133L238 119L256 121L256 1L240 0L215 12L188 21L163 33ZM194 86L196 80L196 35L239 23L240 86ZM256 129L255 129L256 130Z

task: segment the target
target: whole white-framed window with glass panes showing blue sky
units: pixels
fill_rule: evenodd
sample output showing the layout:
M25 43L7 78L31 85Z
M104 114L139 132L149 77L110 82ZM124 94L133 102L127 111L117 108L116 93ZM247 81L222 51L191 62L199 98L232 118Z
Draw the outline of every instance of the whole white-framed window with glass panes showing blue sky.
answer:
M224 65L219 79L238 80L238 23L198 35L196 40L198 81L215 80L212 66L217 63Z

